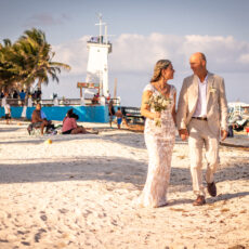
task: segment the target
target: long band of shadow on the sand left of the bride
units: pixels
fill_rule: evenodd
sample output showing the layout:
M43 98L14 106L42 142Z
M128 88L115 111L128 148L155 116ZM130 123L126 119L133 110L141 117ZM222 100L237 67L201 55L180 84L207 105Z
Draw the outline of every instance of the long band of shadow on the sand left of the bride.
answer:
M53 162L48 158L39 160L36 163L30 160L28 163L0 165L0 183L99 180L139 186L146 175L144 163L119 157L63 158Z

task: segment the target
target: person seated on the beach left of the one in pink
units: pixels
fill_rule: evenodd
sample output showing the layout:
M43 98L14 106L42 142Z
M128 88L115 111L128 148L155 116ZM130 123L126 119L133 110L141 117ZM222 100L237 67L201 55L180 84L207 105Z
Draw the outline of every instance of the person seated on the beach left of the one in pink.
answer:
M47 120L45 118L42 118L41 116L41 104L37 104L36 109L32 112L31 116L31 126L28 127L28 133L30 134L30 131L32 128L40 128L41 129L41 135L43 135L44 127L50 127L51 121Z

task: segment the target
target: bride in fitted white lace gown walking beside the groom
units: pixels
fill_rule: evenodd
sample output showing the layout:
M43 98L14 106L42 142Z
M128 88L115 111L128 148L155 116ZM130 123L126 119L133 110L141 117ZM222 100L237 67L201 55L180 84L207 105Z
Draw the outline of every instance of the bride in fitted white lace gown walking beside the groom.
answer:
M171 156L175 140L176 89L168 83L168 80L173 79L173 75L174 69L170 61L158 61L150 83L143 91L141 114L146 118L144 137L148 150L148 171L139 198L139 206L142 207L158 208L167 205ZM168 107L156 112L148 104L152 96L168 100Z

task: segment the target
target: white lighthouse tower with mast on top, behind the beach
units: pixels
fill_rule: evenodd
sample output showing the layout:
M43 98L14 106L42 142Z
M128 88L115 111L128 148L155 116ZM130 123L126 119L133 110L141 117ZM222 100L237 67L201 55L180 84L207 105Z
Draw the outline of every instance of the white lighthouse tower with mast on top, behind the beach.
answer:
M108 88L108 54L112 52L112 43L108 41L107 25L102 22L102 15L99 15L100 35L91 37L87 47L89 50L87 78L86 82L94 83L100 89L100 95L107 97L109 95ZM105 34L103 35L103 26Z

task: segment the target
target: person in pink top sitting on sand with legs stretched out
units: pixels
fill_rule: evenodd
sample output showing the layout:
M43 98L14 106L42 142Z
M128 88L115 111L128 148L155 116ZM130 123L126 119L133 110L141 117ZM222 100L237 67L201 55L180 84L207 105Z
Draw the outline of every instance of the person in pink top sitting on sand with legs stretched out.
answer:
M92 129L86 129L82 126L78 126L76 120L79 119L77 114L74 114L73 109L69 109L66 114L66 117L63 119L63 134L97 134L97 131L93 131Z

